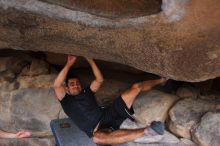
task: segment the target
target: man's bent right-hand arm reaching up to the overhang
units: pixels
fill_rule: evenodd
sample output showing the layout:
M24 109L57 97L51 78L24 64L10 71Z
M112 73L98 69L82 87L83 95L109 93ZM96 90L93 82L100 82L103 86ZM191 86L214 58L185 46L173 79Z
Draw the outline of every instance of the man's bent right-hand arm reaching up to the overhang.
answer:
M95 80L92 81L92 83L90 85L90 89L93 92L96 92L101 87L101 85L104 81L104 78L102 76L101 71L99 70L99 68L95 64L95 61L91 58L86 58L86 59L87 59L88 63L90 64L90 66L92 67L93 74L95 75Z

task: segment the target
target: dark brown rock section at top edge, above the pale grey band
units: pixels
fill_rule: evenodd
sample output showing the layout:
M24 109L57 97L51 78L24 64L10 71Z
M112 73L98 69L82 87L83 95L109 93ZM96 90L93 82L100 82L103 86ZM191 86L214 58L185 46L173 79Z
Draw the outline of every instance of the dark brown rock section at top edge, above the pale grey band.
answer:
M162 0L41 0L64 7L88 12L100 17L125 18L155 14L160 11Z

